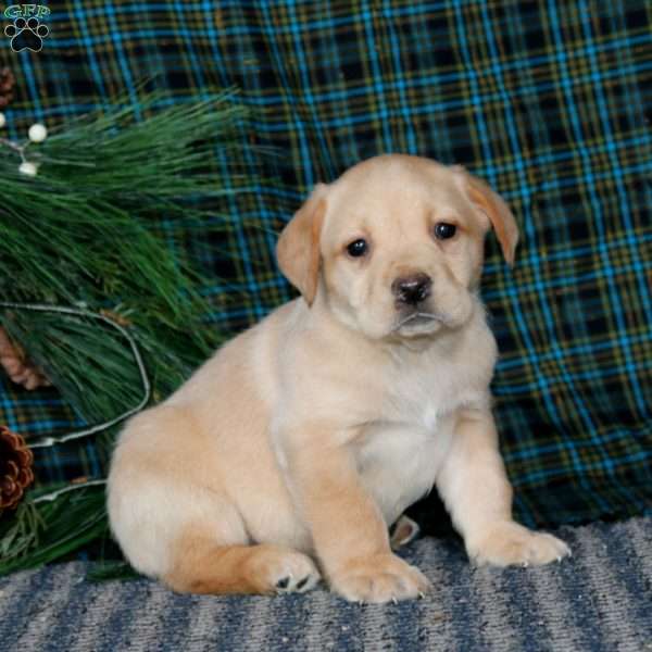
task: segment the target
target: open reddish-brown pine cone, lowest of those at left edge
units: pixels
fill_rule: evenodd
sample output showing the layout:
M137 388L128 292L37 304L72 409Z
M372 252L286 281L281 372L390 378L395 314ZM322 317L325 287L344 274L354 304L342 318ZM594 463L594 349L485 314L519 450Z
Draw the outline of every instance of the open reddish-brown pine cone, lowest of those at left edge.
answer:
M17 506L25 489L34 481L34 455L25 440L7 426L0 426L0 513Z

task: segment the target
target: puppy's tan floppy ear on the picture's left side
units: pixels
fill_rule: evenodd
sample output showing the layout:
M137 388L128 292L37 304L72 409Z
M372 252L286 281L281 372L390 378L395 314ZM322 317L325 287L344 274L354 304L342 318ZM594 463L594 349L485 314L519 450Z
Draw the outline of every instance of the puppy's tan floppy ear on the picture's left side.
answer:
M326 213L325 184L317 184L305 203L283 229L276 259L284 276L312 305L317 293L321 254L319 237Z

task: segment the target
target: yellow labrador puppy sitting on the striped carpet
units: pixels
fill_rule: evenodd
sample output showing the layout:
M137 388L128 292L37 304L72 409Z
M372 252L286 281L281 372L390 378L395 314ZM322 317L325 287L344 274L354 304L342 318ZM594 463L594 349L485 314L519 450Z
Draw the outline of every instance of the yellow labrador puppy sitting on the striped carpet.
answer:
M178 591L419 595L388 526L435 485L477 563L544 564L565 543L512 521L478 298L505 203L461 167L386 155L318 185L280 235L302 297L133 418L109 515L141 573Z

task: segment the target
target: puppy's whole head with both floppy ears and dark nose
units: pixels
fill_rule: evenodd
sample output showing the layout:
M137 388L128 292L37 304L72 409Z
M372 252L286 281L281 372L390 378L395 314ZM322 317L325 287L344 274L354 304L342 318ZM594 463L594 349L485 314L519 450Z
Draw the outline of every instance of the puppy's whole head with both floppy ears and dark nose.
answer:
M511 264L518 229L504 201L459 166L369 159L317 185L280 235L283 273L372 338L423 337L465 324L493 226Z

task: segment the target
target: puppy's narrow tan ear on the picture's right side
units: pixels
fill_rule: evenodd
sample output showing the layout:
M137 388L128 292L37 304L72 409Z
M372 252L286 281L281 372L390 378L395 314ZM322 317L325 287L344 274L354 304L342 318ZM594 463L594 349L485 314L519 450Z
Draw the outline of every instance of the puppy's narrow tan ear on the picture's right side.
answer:
M461 165L454 165L455 172L463 185L463 189L471 202L488 217L493 226L496 237L500 242L505 261L514 264L514 253L518 243L518 226L516 220L503 199L494 192L485 181L468 174Z

